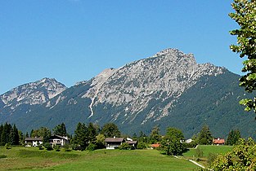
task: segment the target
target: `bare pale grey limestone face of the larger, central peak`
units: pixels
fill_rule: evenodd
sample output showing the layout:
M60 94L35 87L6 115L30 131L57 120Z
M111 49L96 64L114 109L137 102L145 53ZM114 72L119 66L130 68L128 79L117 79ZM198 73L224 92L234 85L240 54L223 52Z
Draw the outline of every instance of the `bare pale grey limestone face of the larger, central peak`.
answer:
M131 121L143 111L151 99L165 99L168 103L164 108L152 108L145 116L144 124L151 117L155 121L168 115L173 102L200 77L205 75L216 77L226 68L213 64L197 64L191 54L184 54L177 49L162 50L156 55L141 59L118 69L106 69L92 79L92 88L83 94L83 98L92 99L91 115L95 115L93 107L100 103L109 103L115 107L124 106L123 111L113 113L115 121L119 116L126 116Z

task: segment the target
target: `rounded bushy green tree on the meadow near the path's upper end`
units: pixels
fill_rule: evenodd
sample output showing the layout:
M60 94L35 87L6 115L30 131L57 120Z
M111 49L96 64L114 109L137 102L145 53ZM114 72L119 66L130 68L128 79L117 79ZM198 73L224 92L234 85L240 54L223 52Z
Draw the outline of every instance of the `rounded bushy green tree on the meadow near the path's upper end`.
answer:
M184 135L180 129L168 128L167 133L161 141L161 150L166 155L181 155L185 150L185 144L182 143Z

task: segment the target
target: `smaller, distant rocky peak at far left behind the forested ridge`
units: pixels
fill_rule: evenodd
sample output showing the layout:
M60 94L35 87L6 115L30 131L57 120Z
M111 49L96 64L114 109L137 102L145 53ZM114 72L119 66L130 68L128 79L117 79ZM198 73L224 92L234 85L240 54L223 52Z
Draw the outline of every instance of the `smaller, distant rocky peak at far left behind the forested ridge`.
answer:
M24 112L29 112L34 107L48 102L65 89L65 85L50 78L20 85L0 95L0 121L12 122L9 120L10 116L16 116L19 119Z

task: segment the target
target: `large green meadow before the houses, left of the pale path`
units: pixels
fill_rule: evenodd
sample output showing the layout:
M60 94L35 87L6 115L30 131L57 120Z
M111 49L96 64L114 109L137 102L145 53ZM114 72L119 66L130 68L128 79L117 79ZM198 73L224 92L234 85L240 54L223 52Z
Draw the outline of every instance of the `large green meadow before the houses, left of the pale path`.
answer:
M38 147L0 147L0 170L197 170L188 160L156 150L39 151Z

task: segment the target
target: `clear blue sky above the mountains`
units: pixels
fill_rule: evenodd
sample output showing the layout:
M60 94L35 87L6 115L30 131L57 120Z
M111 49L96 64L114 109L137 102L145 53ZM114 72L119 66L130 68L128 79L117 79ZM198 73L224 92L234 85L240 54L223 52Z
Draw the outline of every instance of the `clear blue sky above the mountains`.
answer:
M231 0L2 0L0 94L43 77L67 86L166 48L240 74Z

